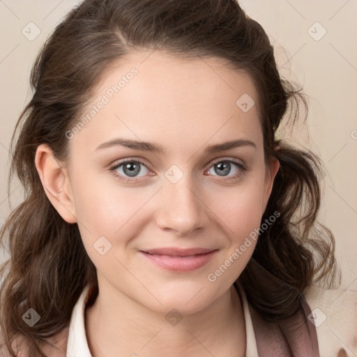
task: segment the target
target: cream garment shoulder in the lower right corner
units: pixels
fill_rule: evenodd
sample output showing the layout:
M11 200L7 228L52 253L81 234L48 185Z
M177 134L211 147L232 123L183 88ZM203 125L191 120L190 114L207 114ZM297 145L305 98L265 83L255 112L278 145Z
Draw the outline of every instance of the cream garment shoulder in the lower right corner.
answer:
M312 313L308 319L317 330L321 356L357 355L357 291L322 289L305 291Z

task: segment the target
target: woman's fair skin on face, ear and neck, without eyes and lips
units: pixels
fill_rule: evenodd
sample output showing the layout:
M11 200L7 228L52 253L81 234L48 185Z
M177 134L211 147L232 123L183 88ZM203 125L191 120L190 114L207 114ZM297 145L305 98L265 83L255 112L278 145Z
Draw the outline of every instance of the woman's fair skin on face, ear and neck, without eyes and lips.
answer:
M236 105L243 93L257 103L257 92L248 75L220 59L133 52L107 70L86 109L132 67L137 75L68 141L68 162L45 145L36 152L47 197L63 220L77 222L97 268L100 292L86 310L89 348L94 357L245 356L243 309L232 283L256 242L215 282L207 277L259 228L279 169L278 160L264 163L258 106L243 112ZM118 137L155 142L165 153L96 150ZM256 148L204 153L234 139ZM126 182L123 166L115 171L122 180L109 170L127 158L144 162L136 181ZM232 162L220 176L220 159L248 170ZM183 174L176 183L165 176L172 165ZM112 244L105 255L93 248L100 236ZM195 271L172 272L139 252L162 247L218 252ZM172 309L183 317L176 326L165 319Z

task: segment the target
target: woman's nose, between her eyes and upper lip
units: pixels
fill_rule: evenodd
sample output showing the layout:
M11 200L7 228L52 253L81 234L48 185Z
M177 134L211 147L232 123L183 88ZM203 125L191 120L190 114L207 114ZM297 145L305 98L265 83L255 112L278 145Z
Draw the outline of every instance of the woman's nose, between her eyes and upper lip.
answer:
M204 197L188 179L177 183L165 181L160 190L160 210L156 222L161 229L172 230L179 236L188 236L209 222Z

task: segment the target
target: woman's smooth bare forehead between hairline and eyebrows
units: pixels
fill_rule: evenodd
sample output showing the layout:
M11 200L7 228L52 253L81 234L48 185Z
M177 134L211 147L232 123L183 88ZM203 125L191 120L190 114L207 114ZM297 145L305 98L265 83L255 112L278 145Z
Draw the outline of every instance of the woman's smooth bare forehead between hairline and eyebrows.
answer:
M201 144L213 136L215 141L237 135L257 141L261 135L257 100L252 79L221 59L134 52L102 75L78 118L89 120L75 142L94 145L124 135L167 140L176 147L188 137Z

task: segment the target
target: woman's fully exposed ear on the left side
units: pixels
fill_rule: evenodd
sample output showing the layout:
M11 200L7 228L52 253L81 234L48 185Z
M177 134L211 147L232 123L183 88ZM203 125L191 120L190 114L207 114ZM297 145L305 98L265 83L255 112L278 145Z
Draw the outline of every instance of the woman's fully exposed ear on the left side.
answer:
M52 206L66 222L77 222L68 171L64 165L61 165L61 162L56 160L48 145L38 146L35 165L45 194Z

